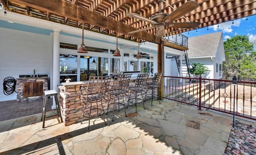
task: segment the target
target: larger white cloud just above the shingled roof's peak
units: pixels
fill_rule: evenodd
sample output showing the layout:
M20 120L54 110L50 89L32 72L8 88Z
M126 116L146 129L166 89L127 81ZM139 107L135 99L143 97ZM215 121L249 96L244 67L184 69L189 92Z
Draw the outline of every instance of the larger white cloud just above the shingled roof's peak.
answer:
M234 24L232 24L234 22ZM220 23L214 26L209 26L209 28L213 29L214 31L222 30L223 33L232 33L233 29L232 26L239 27L241 23L241 19L229 21L225 23Z

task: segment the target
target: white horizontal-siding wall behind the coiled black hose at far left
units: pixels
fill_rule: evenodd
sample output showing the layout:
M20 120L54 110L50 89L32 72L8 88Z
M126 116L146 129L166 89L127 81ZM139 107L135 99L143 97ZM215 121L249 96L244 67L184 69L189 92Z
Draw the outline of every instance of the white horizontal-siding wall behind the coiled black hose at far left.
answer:
M33 75L33 70L49 77L51 37L2 27L0 32L0 101L16 100L16 92L4 94L4 78Z

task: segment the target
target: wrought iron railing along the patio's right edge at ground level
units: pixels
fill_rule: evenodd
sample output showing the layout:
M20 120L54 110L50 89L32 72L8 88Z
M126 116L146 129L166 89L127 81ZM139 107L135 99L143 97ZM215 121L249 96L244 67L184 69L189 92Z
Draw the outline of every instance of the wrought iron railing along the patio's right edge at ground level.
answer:
M256 120L256 82L164 76L164 98ZM234 91L235 89L235 91ZM235 108L234 107L235 104Z

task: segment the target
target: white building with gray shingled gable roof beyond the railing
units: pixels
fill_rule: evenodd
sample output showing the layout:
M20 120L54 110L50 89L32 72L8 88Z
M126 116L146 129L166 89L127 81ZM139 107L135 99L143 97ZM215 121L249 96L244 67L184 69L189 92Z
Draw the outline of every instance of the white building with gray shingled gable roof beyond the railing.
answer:
M203 78L221 79L222 62L226 61L222 31L188 38L188 60L203 63L210 70Z

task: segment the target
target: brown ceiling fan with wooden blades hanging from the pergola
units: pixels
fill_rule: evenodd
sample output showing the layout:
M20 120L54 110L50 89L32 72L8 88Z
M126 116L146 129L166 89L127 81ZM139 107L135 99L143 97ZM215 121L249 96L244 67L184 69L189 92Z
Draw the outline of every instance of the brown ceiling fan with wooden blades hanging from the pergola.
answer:
M184 3L182 6L180 6L179 8L177 8L170 14L161 12L161 2L165 2L166 4L168 4L168 3L165 0L158 0L158 2L160 5L160 11L158 14L154 14L150 18L145 18L136 13L127 14L127 16L136 18L138 20L143 20L145 22L149 22L153 25L151 27L147 27L144 29L138 29L136 31L128 32L129 34L136 33L139 31L147 31L149 29L153 29L156 27L156 36L162 37L165 34L165 32L164 32L165 28L171 28L171 27L174 27L174 28L196 28L201 24L200 22L174 22L174 20L176 20L182 16L184 17L184 15L187 14L188 12L191 12L192 10L198 8L199 5L196 2L189 0L188 2ZM168 4L168 5L171 8L173 8L170 4Z

